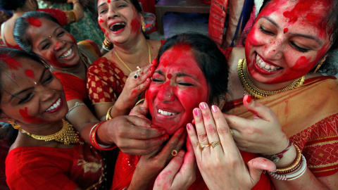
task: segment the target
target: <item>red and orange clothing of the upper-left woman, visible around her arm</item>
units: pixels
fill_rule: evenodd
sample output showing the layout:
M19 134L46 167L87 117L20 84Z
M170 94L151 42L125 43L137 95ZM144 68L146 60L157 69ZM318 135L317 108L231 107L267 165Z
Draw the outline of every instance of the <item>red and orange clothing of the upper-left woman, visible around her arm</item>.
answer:
M80 56L82 56L84 59L84 64L86 64L86 67L89 67L92 62L101 56L99 47L94 42L92 42L92 40L87 39L79 42L77 43L77 47L81 53ZM72 99L87 101L87 82L85 80L82 80L80 77L66 72L53 72L53 74L58 77L58 79L63 84L66 101Z

